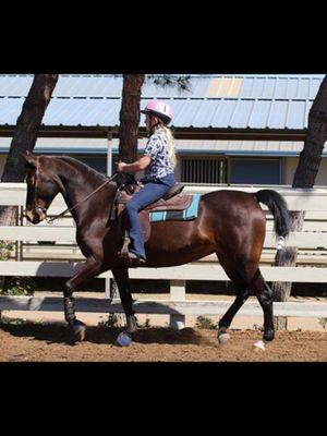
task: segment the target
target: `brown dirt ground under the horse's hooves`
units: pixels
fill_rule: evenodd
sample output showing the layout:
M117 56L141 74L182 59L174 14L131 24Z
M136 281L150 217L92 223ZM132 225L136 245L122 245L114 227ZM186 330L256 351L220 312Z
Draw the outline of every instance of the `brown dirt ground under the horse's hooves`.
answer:
M73 344L63 324L2 324L0 362L327 362L327 335L319 331L278 331L266 351L253 348L262 338L256 330L231 330L218 347L216 330L141 328L128 348L116 344L119 331L88 327Z

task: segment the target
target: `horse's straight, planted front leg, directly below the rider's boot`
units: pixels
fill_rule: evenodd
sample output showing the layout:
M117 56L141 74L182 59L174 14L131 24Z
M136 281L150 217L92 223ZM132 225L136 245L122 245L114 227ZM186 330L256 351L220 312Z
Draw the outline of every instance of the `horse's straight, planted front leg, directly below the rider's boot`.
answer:
M136 318L133 310L133 299L128 269L112 269L113 278L117 282L121 304L126 316L126 332L134 334L137 330Z

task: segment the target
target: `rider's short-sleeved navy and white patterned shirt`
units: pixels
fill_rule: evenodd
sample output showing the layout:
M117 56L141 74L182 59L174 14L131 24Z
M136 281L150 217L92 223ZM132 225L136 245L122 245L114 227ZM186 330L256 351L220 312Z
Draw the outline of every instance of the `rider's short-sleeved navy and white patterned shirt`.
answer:
M157 129L149 137L144 155L152 159L146 168L144 179L161 179L173 173L173 168L168 155L168 142L164 129Z

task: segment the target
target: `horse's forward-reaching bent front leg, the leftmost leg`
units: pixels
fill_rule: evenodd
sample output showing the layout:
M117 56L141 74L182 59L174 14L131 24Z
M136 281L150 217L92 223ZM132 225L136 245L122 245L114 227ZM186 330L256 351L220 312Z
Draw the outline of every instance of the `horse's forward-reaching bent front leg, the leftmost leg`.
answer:
M85 280L97 276L100 272L101 265L102 263L100 261L89 256L81 269L78 269L78 271L65 282L65 289L63 291L64 318L74 335L74 339L77 341L84 339L86 326L76 318L73 292L76 287Z

